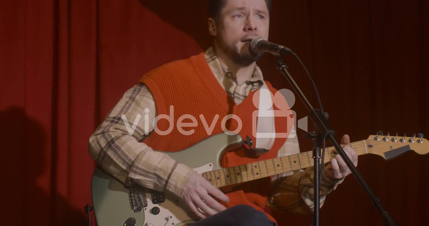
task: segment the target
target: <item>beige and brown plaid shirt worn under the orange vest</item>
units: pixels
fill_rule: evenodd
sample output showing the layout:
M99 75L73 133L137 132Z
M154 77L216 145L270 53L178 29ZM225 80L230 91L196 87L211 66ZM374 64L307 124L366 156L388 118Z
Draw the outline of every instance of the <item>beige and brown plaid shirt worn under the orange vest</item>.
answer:
M249 92L260 89L263 85L262 72L258 66L255 66L249 80L238 84L235 75L221 65L212 48L205 51L205 59L221 86L236 104L240 104ZM123 119L129 125L133 125L137 114L142 112L148 112L148 125L139 122L133 135L129 135ZM154 98L148 87L144 84L133 86L125 92L90 137L89 153L103 170L125 184L132 181L154 190L167 190L181 198L190 175L195 171L175 162L166 154L154 152L151 147L141 142L153 131L152 122L157 116L156 112ZM296 134L296 131L293 129L291 134ZM297 153L299 153L298 138L294 136L287 139L278 151L278 156ZM148 170L146 172L133 170L136 168ZM273 209L291 212L312 210L314 207L312 175L313 167L275 176L272 183L274 189L267 204ZM341 181L331 181L322 175L321 205L325 196Z

